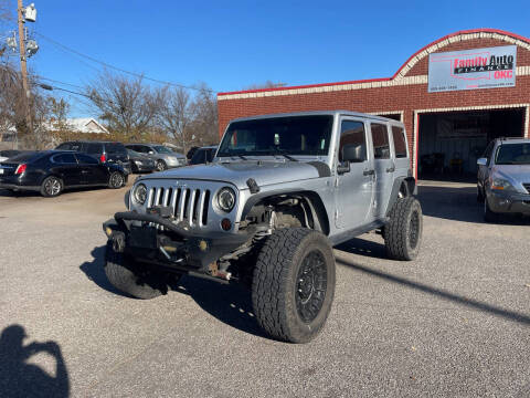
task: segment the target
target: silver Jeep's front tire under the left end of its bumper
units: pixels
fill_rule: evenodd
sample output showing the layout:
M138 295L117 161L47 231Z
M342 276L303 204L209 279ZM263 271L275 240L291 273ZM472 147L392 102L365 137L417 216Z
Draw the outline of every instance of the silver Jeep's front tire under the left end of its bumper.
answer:
M110 241L105 253L105 274L116 289L136 298L155 298L168 292L162 273L147 271L145 266L116 252Z

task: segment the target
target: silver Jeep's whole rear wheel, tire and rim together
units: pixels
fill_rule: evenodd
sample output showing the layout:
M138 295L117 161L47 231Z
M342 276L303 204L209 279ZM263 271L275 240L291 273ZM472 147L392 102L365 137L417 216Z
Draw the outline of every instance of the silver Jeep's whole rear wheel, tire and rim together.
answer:
M386 253L394 260L414 260L422 242L423 214L414 197L399 198L390 211L390 221L384 227Z

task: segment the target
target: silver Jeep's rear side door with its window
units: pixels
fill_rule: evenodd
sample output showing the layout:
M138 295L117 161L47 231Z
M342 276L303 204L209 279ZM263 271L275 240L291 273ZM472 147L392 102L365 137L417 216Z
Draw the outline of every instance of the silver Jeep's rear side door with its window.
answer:
M384 217L394 182L395 164L391 156L389 125L385 122L370 122L373 146L373 166L375 186L373 198L373 216Z

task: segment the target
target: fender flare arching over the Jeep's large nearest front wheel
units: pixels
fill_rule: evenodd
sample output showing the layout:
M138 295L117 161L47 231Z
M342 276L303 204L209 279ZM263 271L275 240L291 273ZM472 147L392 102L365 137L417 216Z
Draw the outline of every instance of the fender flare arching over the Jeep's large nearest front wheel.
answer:
M276 189L253 195L243 207L241 219L244 220L254 206L259 205L266 199L272 199L279 196L297 198L301 197L305 205L307 205L309 208L310 213L308 216L312 218L315 230L322 232L325 235L329 234L329 219L322 199L317 192L304 189ZM307 211L304 205L303 208L304 211Z

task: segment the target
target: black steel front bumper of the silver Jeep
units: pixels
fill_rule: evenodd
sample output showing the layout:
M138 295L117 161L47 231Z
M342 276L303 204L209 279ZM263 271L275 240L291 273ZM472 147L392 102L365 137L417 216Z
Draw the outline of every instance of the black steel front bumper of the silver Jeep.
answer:
M211 264L248 241L253 231L204 232L173 223L168 218L136 211L117 212L103 223L114 250L135 260L176 271L208 274Z

